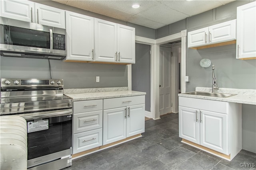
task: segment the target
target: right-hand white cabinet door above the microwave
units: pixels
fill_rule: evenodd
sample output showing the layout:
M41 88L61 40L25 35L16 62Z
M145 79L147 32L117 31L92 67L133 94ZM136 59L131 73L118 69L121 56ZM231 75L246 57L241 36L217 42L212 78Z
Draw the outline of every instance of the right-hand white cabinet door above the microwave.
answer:
M35 3L36 23L65 29L65 11Z

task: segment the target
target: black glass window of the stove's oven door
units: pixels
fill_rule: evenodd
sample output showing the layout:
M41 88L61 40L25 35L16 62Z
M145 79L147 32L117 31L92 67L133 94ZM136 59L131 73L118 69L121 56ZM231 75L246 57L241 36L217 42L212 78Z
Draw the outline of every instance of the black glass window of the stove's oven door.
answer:
M72 117L49 117L49 128L28 133L28 160L72 147ZM30 122L33 120L27 120Z

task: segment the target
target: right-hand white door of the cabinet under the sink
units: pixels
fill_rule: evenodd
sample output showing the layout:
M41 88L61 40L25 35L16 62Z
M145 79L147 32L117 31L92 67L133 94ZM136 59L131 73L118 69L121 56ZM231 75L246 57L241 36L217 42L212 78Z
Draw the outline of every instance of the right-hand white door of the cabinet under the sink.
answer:
M200 111L200 145L228 153L228 115L212 111Z

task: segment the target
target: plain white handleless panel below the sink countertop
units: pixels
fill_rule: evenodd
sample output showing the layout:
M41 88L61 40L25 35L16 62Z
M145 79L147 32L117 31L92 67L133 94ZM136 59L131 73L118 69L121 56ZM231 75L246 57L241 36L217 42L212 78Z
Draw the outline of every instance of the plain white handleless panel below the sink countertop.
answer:
M179 106L227 114L228 102L179 97Z

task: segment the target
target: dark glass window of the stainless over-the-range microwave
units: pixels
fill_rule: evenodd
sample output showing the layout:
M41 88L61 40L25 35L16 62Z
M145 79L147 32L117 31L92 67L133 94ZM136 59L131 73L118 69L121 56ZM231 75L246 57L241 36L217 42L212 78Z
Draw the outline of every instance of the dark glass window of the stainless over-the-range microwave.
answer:
M4 44L50 49L50 33L34 29L1 25Z

